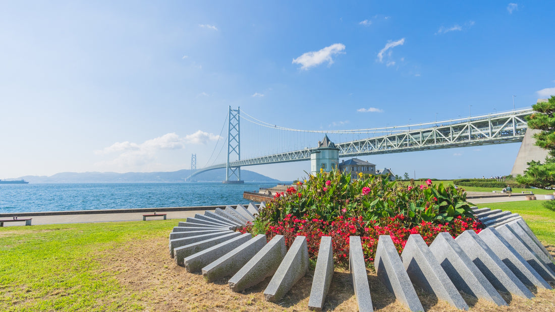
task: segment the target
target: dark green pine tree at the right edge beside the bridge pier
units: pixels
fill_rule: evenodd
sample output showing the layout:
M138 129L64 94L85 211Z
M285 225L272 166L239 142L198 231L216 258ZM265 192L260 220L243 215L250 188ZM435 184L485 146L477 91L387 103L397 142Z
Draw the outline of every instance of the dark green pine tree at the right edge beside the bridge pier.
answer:
M517 181L539 188L555 188L555 96L544 102L532 105L533 114L528 116L528 127L542 130L534 134L536 145L549 151L549 156L542 163L528 162L524 175L518 175Z

